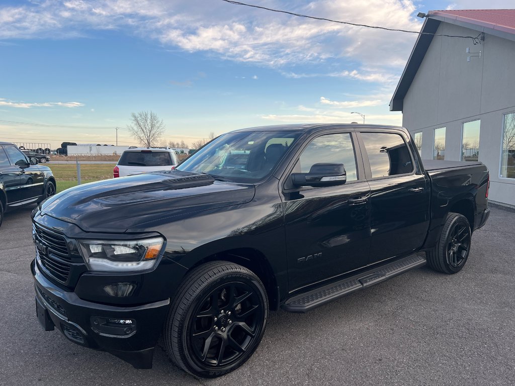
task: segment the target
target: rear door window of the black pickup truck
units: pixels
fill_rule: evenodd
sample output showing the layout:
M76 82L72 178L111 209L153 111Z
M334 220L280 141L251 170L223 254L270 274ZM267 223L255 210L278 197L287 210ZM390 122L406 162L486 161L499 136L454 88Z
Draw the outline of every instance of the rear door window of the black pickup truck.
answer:
M361 133L372 178L395 176L413 172L408 147L399 134Z

